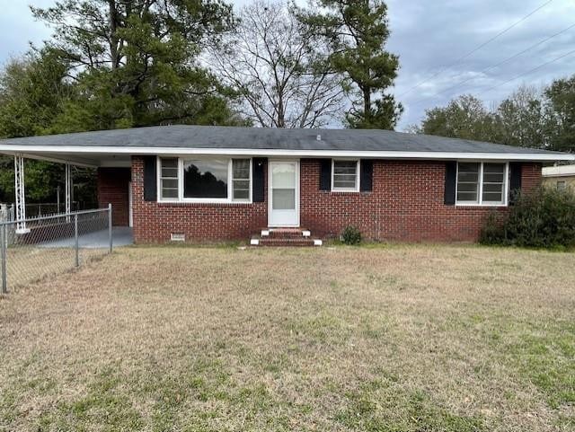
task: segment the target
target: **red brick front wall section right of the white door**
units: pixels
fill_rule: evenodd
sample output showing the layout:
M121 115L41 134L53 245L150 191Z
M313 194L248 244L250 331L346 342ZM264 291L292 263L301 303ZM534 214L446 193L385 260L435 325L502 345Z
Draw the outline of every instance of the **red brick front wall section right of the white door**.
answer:
M336 236L346 225L356 225L374 240L475 241L495 207L446 206L445 166L443 162L375 161L373 190L345 193L319 190L319 161L303 159L301 225L321 236ZM525 164L525 189L540 181L541 165ZM497 211L507 210L497 207Z

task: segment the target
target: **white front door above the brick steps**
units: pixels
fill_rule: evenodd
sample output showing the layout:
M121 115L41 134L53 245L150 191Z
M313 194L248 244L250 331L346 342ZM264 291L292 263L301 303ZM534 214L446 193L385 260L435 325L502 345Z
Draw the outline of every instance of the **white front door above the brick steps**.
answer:
M299 163L270 161L268 172L268 225L299 226Z

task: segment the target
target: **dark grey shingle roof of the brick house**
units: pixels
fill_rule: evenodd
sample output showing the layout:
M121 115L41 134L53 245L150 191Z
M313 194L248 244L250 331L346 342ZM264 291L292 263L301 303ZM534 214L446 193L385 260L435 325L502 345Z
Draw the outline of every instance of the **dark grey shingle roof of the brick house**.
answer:
M321 140L317 136L321 136ZM414 135L380 129L279 129L220 126L157 126L23 137L3 145L123 146L376 152L561 154L467 139Z

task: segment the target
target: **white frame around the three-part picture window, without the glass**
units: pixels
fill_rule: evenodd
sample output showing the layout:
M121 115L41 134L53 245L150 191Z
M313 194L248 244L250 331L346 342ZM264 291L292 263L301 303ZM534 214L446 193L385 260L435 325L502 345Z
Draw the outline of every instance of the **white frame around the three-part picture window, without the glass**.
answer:
M178 198L162 198L162 184L161 184L161 174L162 174L162 159L177 159L178 160ZM183 184L183 166L184 160L227 160L227 198L185 198L184 184ZM248 199L234 199L234 159L247 159L250 161L250 195ZM157 202L158 203L198 203L198 204L252 204L252 191L253 191L253 169L252 169L253 159L252 157L244 156L207 156L207 155L196 155L190 154L187 156L177 156L177 155L166 155L166 156L156 156L156 186L157 186Z

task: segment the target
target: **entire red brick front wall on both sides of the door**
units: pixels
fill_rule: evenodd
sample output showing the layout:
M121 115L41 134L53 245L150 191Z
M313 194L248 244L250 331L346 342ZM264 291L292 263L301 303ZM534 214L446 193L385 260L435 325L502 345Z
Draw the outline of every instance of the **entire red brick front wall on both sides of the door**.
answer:
M132 159L134 237L136 242L167 242L184 233L195 242L247 240L268 225L266 201L253 204L190 204L144 201L144 170ZM266 170L267 171L267 170ZM319 236L335 236L357 225L374 240L408 242L475 241L493 207L455 207L444 202L445 163L375 161L373 191L319 190L320 163L301 160L301 226ZM264 175L267 182L267 175ZM522 184L533 189L541 165L526 163ZM505 208L498 211L505 212Z

